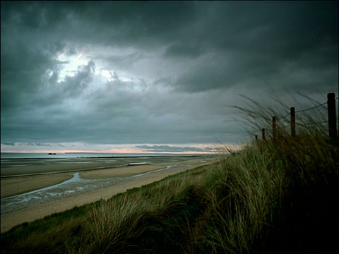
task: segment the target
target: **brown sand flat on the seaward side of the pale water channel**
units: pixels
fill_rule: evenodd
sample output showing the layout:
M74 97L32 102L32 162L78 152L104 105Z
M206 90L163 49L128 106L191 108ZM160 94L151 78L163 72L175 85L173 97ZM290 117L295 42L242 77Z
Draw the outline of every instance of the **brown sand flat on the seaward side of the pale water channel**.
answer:
M201 159L199 157L194 159L188 158L173 162L162 162L162 159L157 159L157 161L158 162L155 164L141 164L123 167L109 167L107 166L107 164L105 164L105 167L107 167L105 169L97 169L98 167L102 167L102 162L99 162L97 164L93 162L85 164L70 162L68 164L61 164L60 166L59 164L44 164L44 161L42 161L42 164L39 164L35 167L29 166L13 167L9 169L5 168L1 169L1 176L7 176L1 177L1 198L5 198L11 195L18 195L20 193L25 193L28 191L35 191L48 186L53 186L55 184L71 179L73 174L76 172L80 172L81 177L85 179L105 179L110 177L123 177L143 174L149 171L165 169L165 167L167 167L168 165L172 167L192 167L194 165L198 166L206 162L206 159ZM86 170L84 170L84 168ZM59 171L59 173L51 173L51 171ZM28 173L32 175L20 176Z

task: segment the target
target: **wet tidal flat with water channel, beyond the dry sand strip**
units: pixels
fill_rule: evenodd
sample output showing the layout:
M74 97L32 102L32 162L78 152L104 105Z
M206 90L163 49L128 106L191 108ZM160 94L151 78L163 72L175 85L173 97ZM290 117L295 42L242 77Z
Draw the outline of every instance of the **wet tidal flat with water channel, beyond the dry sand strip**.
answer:
M47 160L48 163L42 164L41 160ZM1 214L117 185L159 171L188 169L212 161L211 156L31 159L30 164L15 159L1 161ZM34 169L32 164L36 165ZM51 167L59 169L58 173L50 171ZM62 175L65 175L65 179L59 181ZM32 186L32 183L35 185ZM13 186L16 187L11 190ZM6 196L2 195L3 190Z

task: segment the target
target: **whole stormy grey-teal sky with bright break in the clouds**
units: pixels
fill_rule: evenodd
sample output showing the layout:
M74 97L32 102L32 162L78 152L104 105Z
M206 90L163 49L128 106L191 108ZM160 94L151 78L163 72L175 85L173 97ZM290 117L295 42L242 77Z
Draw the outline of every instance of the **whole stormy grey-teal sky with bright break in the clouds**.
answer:
M210 152L328 92L337 1L1 1L1 152Z

